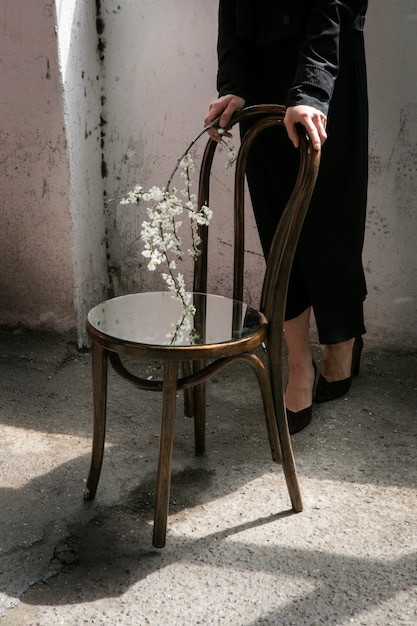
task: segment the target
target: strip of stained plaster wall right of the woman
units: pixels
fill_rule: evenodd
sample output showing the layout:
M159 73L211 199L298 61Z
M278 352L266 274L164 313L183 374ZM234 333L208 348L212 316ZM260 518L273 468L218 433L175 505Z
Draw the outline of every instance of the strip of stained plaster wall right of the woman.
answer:
M417 339L416 4L371 3L367 23L370 184L364 260L370 336L415 348Z

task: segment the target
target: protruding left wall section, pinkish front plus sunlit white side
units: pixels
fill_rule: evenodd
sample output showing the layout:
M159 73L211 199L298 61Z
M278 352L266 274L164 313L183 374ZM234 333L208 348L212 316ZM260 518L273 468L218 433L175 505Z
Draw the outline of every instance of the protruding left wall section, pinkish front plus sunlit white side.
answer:
M72 331L108 295L100 3L3 0L0 324Z

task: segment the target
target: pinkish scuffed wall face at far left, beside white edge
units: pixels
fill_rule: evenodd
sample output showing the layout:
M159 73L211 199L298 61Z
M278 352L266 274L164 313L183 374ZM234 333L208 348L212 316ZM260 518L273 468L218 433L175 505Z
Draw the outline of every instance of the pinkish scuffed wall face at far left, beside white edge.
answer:
M0 324L74 328L68 160L53 2L0 11Z

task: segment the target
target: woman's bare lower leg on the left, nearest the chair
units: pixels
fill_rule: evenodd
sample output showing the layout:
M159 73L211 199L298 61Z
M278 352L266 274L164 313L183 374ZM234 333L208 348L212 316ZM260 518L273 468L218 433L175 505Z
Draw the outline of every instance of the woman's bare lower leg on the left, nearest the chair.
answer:
M284 324L289 369L285 405L294 412L311 406L312 402L314 368L309 343L310 313L308 308Z

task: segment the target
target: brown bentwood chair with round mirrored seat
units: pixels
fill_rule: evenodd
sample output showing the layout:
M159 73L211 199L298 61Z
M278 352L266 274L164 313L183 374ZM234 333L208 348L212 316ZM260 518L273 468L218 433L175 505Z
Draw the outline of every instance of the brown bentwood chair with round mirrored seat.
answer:
M201 228L201 255L194 275L196 307L192 339L167 343L172 322L181 317L181 305L169 292L136 293L107 300L93 308L87 320L92 340L93 449L85 499L95 497L100 477L106 426L107 366L141 389L162 392L162 419L153 545L166 541L177 390L185 391L185 406L194 415L195 451L205 451L205 382L237 360L255 371L263 400L272 458L282 462L292 508L303 508L284 406L283 324L289 272L298 236L308 209L320 155L300 133L298 178L277 228L269 255L259 310L242 302L244 278L244 175L248 151L258 133L282 126L285 109L278 105L248 107L232 119L253 124L241 141L236 161L234 192L234 285L232 298L208 294L208 230ZM285 132L285 129L282 129ZM200 170L199 206L209 203L209 182L217 144L208 141ZM279 172L277 172L277 179ZM215 219L215 218L214 218ZM260 347L266 345L266 364ZM122 357L141 357L164 363L161 380L133 374ZM125 359L126 361L126 359Z

